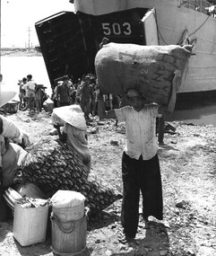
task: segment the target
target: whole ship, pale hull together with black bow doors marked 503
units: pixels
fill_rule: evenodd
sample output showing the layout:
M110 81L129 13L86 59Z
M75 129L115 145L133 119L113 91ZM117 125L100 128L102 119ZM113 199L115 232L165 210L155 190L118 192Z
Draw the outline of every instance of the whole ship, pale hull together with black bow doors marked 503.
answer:
M178 93L216 90L216 18L188 8L195 6L186 6L183 2L74 0L75 13L60 13L37 22L36 30L51 84L66 73L75 78L94 73L94 57L103 37L114 42L167 45L184 44L185 35L185 43L193 40L196 43L186 81ZM204 10L205 2L200 2ZM146 18L149 12L151 19ZM152 22L148 23L148 19ZM70 26L66 25L68 23ZM134 26L133 30L128 24ZM59 28L55 31L56 26ZM64 27L65 33L57 32Z

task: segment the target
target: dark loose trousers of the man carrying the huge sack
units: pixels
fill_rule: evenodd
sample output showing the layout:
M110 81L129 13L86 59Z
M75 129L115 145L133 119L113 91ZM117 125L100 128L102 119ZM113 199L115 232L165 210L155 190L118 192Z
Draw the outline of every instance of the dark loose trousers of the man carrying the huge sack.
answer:
M125 152L122 156L123 201L121 222L125 234L134 237L139 222L140 190L143 196L143 217L162 219L162 186L159 158L133 159Z

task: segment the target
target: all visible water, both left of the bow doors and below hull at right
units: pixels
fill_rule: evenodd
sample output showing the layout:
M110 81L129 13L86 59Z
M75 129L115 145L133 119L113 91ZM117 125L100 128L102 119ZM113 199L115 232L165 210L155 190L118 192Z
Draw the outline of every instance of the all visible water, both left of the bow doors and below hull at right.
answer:
M18 80L31 74L37 84L47 86L46 92L51 95L51 85L43 57L1 57L1 72L4 84L19 92ZM180 102L176 110L166 118L194 124L212 124L216 127L215 101Z

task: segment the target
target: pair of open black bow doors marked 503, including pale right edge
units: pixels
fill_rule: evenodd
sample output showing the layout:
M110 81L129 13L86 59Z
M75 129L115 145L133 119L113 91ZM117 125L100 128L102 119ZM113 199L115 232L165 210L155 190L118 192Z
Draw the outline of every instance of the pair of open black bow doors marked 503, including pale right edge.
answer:
M56 78L65 74L79 78L94 73L94 58L104 37L119 43L157 44L155 13L152 12L146 8L97 16L61 12L36 22L50 83L54 84ZM150 21L154 21L151 33L149 25L146 26Z

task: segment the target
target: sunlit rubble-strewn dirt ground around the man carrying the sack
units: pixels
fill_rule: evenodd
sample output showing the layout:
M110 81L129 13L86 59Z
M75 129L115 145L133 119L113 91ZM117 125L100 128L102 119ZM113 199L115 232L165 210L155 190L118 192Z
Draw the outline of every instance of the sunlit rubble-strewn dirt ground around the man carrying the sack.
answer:
M30 136L32 143L53 129L50 115L30 117L27 112L8 114ZM170 122L175 133L165 134L160 146L164 219L153 217L149 225L140 218L134 242L120 243L121 200L114 202L95 219L88 220L86 249L81 256L196 255L216 256L216 128ZM94 117L88 126L91 148L91 172L109 181L119 191L121 155L125 145L125 127L115 121ZM32 231L33 232L33 231ZM53 255L51 228L45 243L22 247L13 238L13 219L0 223L0 255Z

